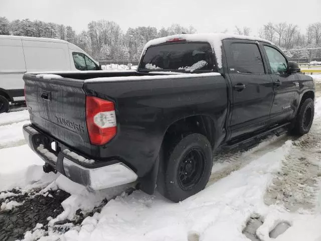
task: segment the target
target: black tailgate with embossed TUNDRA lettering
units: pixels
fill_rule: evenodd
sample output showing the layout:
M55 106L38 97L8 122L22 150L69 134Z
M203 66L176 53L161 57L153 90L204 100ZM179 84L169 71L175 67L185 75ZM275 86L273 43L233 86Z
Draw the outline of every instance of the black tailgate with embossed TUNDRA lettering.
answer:
M90 153L83 80L24 76L31 123L67 146Z

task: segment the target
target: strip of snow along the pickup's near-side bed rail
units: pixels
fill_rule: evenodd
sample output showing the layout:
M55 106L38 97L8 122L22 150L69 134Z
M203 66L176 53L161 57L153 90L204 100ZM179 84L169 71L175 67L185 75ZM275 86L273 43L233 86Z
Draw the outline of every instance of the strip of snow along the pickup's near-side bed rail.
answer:
M163 73L163 72L162 72ZM169 74L169 75L146 75L146 76L120 76L120 77L101 77L86 79L85 83L109 82L109 81L132 81L132 80L154 80L154 79L169 79L169 78L193 78L193 77L210 77L221 76L220 73L200 73L200 74Z

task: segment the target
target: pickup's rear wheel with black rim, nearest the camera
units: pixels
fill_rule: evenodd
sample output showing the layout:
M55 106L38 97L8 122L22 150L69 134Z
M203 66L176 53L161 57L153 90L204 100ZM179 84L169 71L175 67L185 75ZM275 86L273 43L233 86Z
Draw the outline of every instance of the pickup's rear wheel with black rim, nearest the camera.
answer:
M190 134L177 140L165 156L166 198L179 202L205 188L213 166L212 147L205 136Z

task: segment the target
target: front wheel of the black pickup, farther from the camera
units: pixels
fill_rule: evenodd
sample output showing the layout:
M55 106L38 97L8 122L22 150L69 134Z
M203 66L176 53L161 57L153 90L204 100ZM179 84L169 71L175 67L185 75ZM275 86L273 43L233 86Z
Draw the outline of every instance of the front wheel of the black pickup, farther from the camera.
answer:
M307 98L300 105L296 114L294 128L292 133L302 136L310 131L314 117L313 99Z

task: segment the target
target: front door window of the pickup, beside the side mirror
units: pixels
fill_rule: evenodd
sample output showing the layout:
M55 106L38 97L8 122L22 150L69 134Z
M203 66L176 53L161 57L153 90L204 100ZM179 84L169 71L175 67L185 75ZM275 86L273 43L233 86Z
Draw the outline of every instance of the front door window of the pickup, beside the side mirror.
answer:
M267 58L270 62L272 73L286 72L287 62L286 58L276 49L264 45Z

